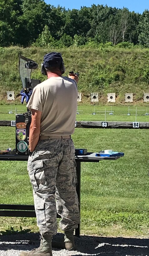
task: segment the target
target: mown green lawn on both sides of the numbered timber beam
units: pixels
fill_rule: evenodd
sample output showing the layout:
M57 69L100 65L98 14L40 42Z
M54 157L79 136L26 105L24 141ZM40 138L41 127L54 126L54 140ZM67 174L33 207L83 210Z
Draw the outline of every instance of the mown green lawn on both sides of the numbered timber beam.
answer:
M21 107L22 105L20 109ZM90 108L91 106L82 106L82 110L87 112ZM114 108L114 115L107 118L115 117L117 121L120 121L120 117L123 117L123 121L134 118L130 121L135 121L135 116L120 115L123 107L117 107L118 115ZM127 108L125 111L127 114ZM2 115L0 114L0 120ZM15 120L14 115L5 114L6 120L7 116L10 117L9 120ZM96 121L97 117L104 117L87 113L76 117L77 120L85 121L88 116L88 120L96 118ZM148 116L137 116L137 121L148 120ZM76 148L83 147L93 152L113 149L125 153L123 158L116 161L81 164L81 233L148 236L148 130L76 128L73 140ZM15 148L15 128L0 127L0 149L8 147ZM33 204L26 162L1 161L0 177L1 204ZM19 229L20 225L23 229L38 230L35 218L1 217L0 230L10 229L11 226Z

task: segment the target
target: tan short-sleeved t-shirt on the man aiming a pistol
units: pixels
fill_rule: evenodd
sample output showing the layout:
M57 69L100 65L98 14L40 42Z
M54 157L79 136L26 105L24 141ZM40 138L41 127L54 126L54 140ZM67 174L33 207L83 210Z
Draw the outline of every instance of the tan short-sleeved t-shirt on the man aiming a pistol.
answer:
M77 98L73 79L50 77L33 89L27 108L42 111L41 134L71 135L75 130Z

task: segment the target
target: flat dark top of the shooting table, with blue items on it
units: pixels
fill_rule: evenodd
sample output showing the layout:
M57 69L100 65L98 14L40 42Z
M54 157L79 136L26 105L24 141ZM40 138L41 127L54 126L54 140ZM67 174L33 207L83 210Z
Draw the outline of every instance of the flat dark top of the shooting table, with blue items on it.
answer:
M88 155L76 155L76 162L99 162L101 160L117 160L121 156L95 156L96 153L88 153ZM11 152L5 155L0 155L0 161L27 161L28 155L18 155Z

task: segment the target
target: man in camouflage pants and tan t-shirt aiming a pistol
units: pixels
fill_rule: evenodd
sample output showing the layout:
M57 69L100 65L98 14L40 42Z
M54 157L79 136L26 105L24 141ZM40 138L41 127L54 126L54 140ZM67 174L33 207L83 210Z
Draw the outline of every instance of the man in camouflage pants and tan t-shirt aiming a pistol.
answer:
M42 73L47 80L37 85L27 104L32 112L28 173L33 186L40 247L20 256L52 256L51 240L57 233L56 211L65 232L65 249L75 250L74 229L79 224L76 193L75 129L78 76L63 77L60 53L44 56Z

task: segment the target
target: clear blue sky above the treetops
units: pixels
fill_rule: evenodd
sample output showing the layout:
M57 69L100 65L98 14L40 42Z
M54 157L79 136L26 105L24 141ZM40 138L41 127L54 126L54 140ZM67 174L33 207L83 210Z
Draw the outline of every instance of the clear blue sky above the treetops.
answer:
M90 7L92 4L107 4L108 6L117 8L127 7L129 11L135 11L139 13L142 13L145 9L149 9L149 0L45 0L45 2L54 5L55 7L57 7L57 5L60 5L62 7L65 7L66 9L80 9L81 6Z

